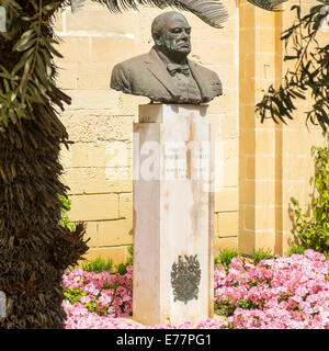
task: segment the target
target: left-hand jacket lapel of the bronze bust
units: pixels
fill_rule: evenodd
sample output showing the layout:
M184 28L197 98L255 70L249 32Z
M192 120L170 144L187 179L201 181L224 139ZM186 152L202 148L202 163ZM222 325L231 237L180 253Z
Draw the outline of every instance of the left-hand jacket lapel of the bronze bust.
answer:
M180 91L174 84L173 79L167 70L167 66L161 61L155 49L151 49L148 58L145 60L147 69L160 81L160 83L170 91L173 97L179 97Z

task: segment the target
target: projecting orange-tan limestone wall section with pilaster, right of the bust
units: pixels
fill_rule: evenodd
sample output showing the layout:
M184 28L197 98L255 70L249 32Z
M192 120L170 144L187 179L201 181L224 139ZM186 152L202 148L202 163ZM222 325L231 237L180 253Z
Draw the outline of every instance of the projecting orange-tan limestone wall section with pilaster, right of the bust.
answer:
M254 117L254 105L270 84L279 87L287 70L283 63L281 33L293 24L295 11L288 1L283 12L265 12L243 0L240 3L239 99L239 250L271 249L283 254L293 244L291 197L304 207L310 203L314 176L313 146L322 146L321 129L305 124L310 101L296 103L294 121L287 125L263 124ZM303 1L304 12L315 5ZM328 42L328 33L324 33ZM293 68L293 67L292 67Z

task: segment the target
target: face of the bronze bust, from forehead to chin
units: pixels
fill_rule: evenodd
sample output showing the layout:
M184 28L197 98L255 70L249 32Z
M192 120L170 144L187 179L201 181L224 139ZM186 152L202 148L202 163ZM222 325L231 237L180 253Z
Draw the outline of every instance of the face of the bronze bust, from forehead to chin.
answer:
M180 13L166 18L156 44L167 56L186 57L191 53L191 26L185 18Z

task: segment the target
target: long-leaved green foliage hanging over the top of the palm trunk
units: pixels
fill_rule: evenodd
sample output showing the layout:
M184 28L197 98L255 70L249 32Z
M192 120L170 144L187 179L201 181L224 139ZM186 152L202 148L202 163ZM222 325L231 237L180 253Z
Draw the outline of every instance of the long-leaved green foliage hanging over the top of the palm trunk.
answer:
M58 125L50 104L64 110L70 98L55 84L52 60L61 55L55 48L52 20L68 2L2 0L0 4L7 10L7 32L0 33L0 132L10 122L21 128L20 120L34 118L35 109Z

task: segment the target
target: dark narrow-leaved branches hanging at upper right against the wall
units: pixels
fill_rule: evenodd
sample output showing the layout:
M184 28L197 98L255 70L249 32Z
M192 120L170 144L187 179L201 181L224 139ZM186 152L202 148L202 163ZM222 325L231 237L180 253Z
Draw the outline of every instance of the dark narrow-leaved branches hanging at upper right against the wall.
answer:
M321 25L327 21L327 11L322 5L315 5L302 15L299 5L292 7L296 11L295 23L282 33L285 45L284 60L294 64L288 69L283 83L274 89L271 86L261 102L256 106L257 115L263 122L270 117L275 123L294 118L296 100L306 100L306 93L313 98L311 109L306 113L306 121L319 124L324 132L329 126L329 44L319 44L322 34Z

